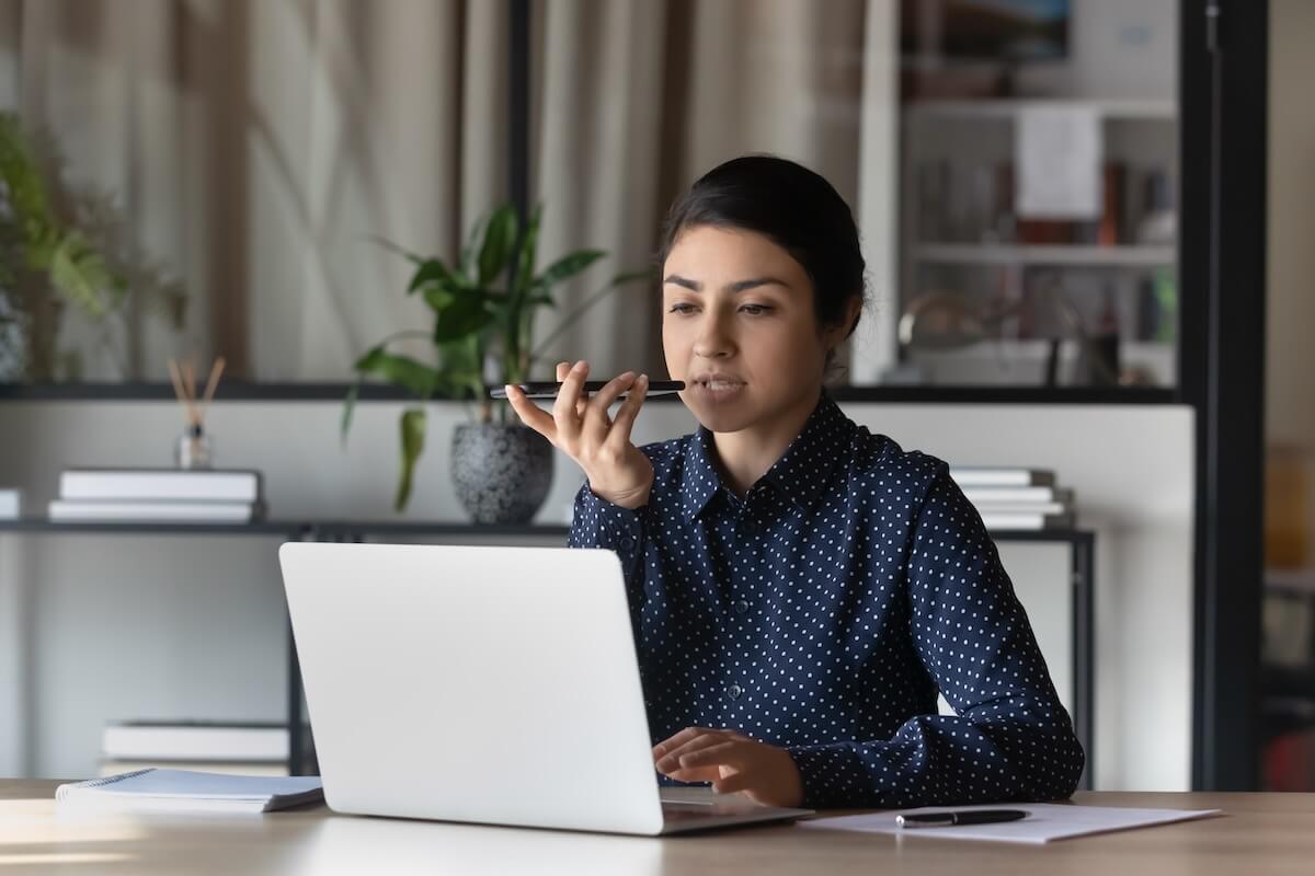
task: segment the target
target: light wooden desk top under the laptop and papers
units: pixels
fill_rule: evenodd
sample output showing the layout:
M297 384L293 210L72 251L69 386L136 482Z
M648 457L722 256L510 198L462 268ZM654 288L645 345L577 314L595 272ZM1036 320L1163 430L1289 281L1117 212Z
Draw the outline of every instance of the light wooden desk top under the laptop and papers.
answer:
M1236 876L1315 872L1315 793L1080 792L1078 802L1224 809L1206 821L1006 846L743 827L648 839L334 816L57 812L57 781L0 780L0 869L76 873L972 873Z

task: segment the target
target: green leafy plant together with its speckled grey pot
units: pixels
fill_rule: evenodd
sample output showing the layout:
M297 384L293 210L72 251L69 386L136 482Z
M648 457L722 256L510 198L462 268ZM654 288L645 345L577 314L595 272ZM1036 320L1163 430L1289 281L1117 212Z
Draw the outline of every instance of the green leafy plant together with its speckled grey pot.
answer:
M540 215L542 209L535 209L521 236L515 209L497 208L476 223L452 265L380 240L416 267L406 294L423 299L433 313L433 326L389 335L356 360L358 382L343 406L342 435L346 440L364 377L381 377L416 397L418 403L401 414L396 511L410 499L416 461L425 449L423 403L435 397L467 398L475 406L475 422L458 426L452 435L451 471L458 499L476 523L525 523L547 496L552 445L521 424L506 402L489 398L485 376L497 386L526 381L543 348L564 328L611 290L646 278L650 272L617 274L535 345L534 315L539 307L556 306L554 288L606 255L601 250L577 250L535 273ZM429 339L433 361L391 349L417 338Z

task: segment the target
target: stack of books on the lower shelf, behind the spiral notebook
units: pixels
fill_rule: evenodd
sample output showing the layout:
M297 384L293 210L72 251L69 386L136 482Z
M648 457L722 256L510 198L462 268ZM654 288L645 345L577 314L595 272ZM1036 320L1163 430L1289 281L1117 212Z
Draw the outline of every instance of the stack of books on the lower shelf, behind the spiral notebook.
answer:
M120 721L105 725L100 775L147 767L288 775L288 728L284 724L224 721Z

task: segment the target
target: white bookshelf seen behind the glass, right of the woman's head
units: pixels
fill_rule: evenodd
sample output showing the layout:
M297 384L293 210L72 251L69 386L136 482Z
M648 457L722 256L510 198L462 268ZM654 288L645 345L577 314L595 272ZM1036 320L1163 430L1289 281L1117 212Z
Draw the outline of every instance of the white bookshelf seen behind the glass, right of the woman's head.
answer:
M1009 173L1002 165L1014 160L1015 126L1024 112L1044 108L1085 109L1097 116L1105 129L1107 160L1126 162L1130 173L1159 168L1176 190L1178 114L1172 100L1093 100L1093 99L1014 99L1014 100L928 100L905 106L901 143L901 210L899 210L899 313L918 297L931 293L964 296L980 302L984 310L1005 307L1024 299L1035 301L1040 314L1035 326L1018 334L1010 326L989 343L945 351L934 348L901 349L901 361L920 368L930 383L1027 385L1024 380L1039 374L1032 368L1036 356L1028 344L1044 347L1047 335L1061 330L1047 327L1047 296L1060 294L1078 313L1082 324L1095 335L1101 317L1115 314L1119 324L1120 366L1139 369L1157 385L1177 383L1177 343L1157 339L1147 332L1151 324L1141 318L1141 299L1147 288L1152 294L1157 280L1147 274L1172 272L1177 277L1176 243L1137 243L1131 238L1130 217L1135 210L1120 208L1119 243L1028 243L1016 234L1013 208L1014 193L1005 190ZM930 204L938 206L935 217L924 214L922 201L927 167L939 193ZM944 173L944 176L938 176ZM1130 196L1127 189L1137 177L1120 188L1132 204L1141 193ZM1002 219L1007 219L1001 225ZM1128 235L1128 239L1124 239ZM1015 238L1022 236L1023 240ZM1040 272L1049 274L1040 277ZM1038 284L1049 284L1059 292L1038 292ZM989 302L989 303L988 303ZM1112 302L1112 303L1110 303ZM1148 306L1159 306L1152 298ZM1156 311L1161 319L1176 319L1172 311ZM1165 324L1165 323L1160 323ZM1035 334L1032 334L1035 332ZM1072 338L1072 335L1063 335ZM1177 336L1177 331L1172 332ZM1010 368L1018 356L1022 368ZM1074 357L1069 356L1066 361ZM961 366L976 360L976 368ZM942 366L944 365L944 366ZM1068 369L1061 369L1068 370ZM907 380L907 378L906 378ZM1065 381L1060 378L1060 383ZM1072 383L1069 383L1072 385Z

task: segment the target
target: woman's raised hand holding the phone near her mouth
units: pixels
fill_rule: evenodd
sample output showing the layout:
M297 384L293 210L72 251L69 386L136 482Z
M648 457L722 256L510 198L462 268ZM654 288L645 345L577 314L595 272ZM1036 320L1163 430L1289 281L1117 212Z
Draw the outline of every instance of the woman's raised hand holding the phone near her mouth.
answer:
M558 362L558 391L552 414L540 410L515 386L506 387L508 401L517 416L531 429L562 448L575 460L589 478L589 489L601 498L623 508L639 508L648 503L654 485L654 466L648 457L630 440L639 408L648 391L648 376L635 377L626 372L585 398L584 381L589 364L580 361ZM630 390L617 408L617 416L608 416L608 408L617 397Z

